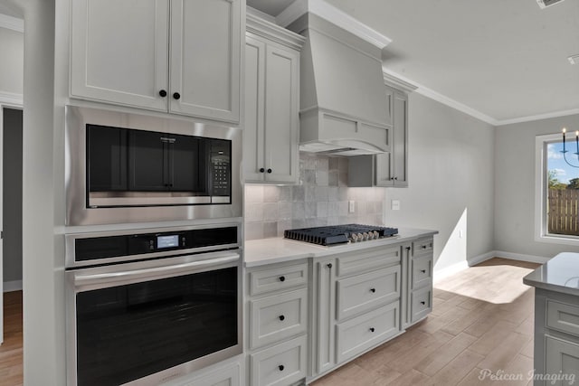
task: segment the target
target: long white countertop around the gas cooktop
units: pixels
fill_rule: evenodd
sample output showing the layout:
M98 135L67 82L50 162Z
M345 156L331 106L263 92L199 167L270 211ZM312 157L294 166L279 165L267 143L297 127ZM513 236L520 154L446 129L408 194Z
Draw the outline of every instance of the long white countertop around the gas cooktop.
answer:
M280 263L296 259L321 258L336 253L395 244L398 242L433 236L437 233L438 231L399 228L398 234L393 237L340 244L332 247L288 240L281 237L247 240L245 241L243 255L246 267L258 267L266 264Z

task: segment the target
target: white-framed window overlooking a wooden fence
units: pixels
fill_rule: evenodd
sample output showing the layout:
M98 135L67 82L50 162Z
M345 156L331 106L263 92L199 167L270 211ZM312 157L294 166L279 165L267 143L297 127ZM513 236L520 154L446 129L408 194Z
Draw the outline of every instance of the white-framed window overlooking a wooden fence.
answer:
M536 236L579 244L579 137L536 137Z

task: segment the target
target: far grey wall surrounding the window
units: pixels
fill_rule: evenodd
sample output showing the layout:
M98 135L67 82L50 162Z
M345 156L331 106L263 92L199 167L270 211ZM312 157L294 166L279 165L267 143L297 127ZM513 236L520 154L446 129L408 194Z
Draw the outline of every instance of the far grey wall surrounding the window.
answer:
M497 127L495 139L495 249L551 258L578 250L535 240L535 137L561 127L579 129L579 115ZM579 175L579 169L577 169Z

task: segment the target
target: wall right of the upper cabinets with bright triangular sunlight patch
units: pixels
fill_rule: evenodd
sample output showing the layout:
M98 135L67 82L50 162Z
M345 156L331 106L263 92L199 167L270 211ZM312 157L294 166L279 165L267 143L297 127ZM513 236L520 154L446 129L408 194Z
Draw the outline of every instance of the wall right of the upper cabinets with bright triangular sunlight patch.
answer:
M435 268L465 265L493 249L495 128L415 92L408 127L409 187L388 189L385 222L440 231Z

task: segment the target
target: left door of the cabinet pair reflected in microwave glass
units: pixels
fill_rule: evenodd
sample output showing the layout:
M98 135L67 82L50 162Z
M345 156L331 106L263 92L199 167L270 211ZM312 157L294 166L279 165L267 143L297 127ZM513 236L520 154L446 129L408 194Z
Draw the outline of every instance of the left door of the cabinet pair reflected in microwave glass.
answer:
M168 190L165 136L152 131L128 133L128 189L141 192Z

